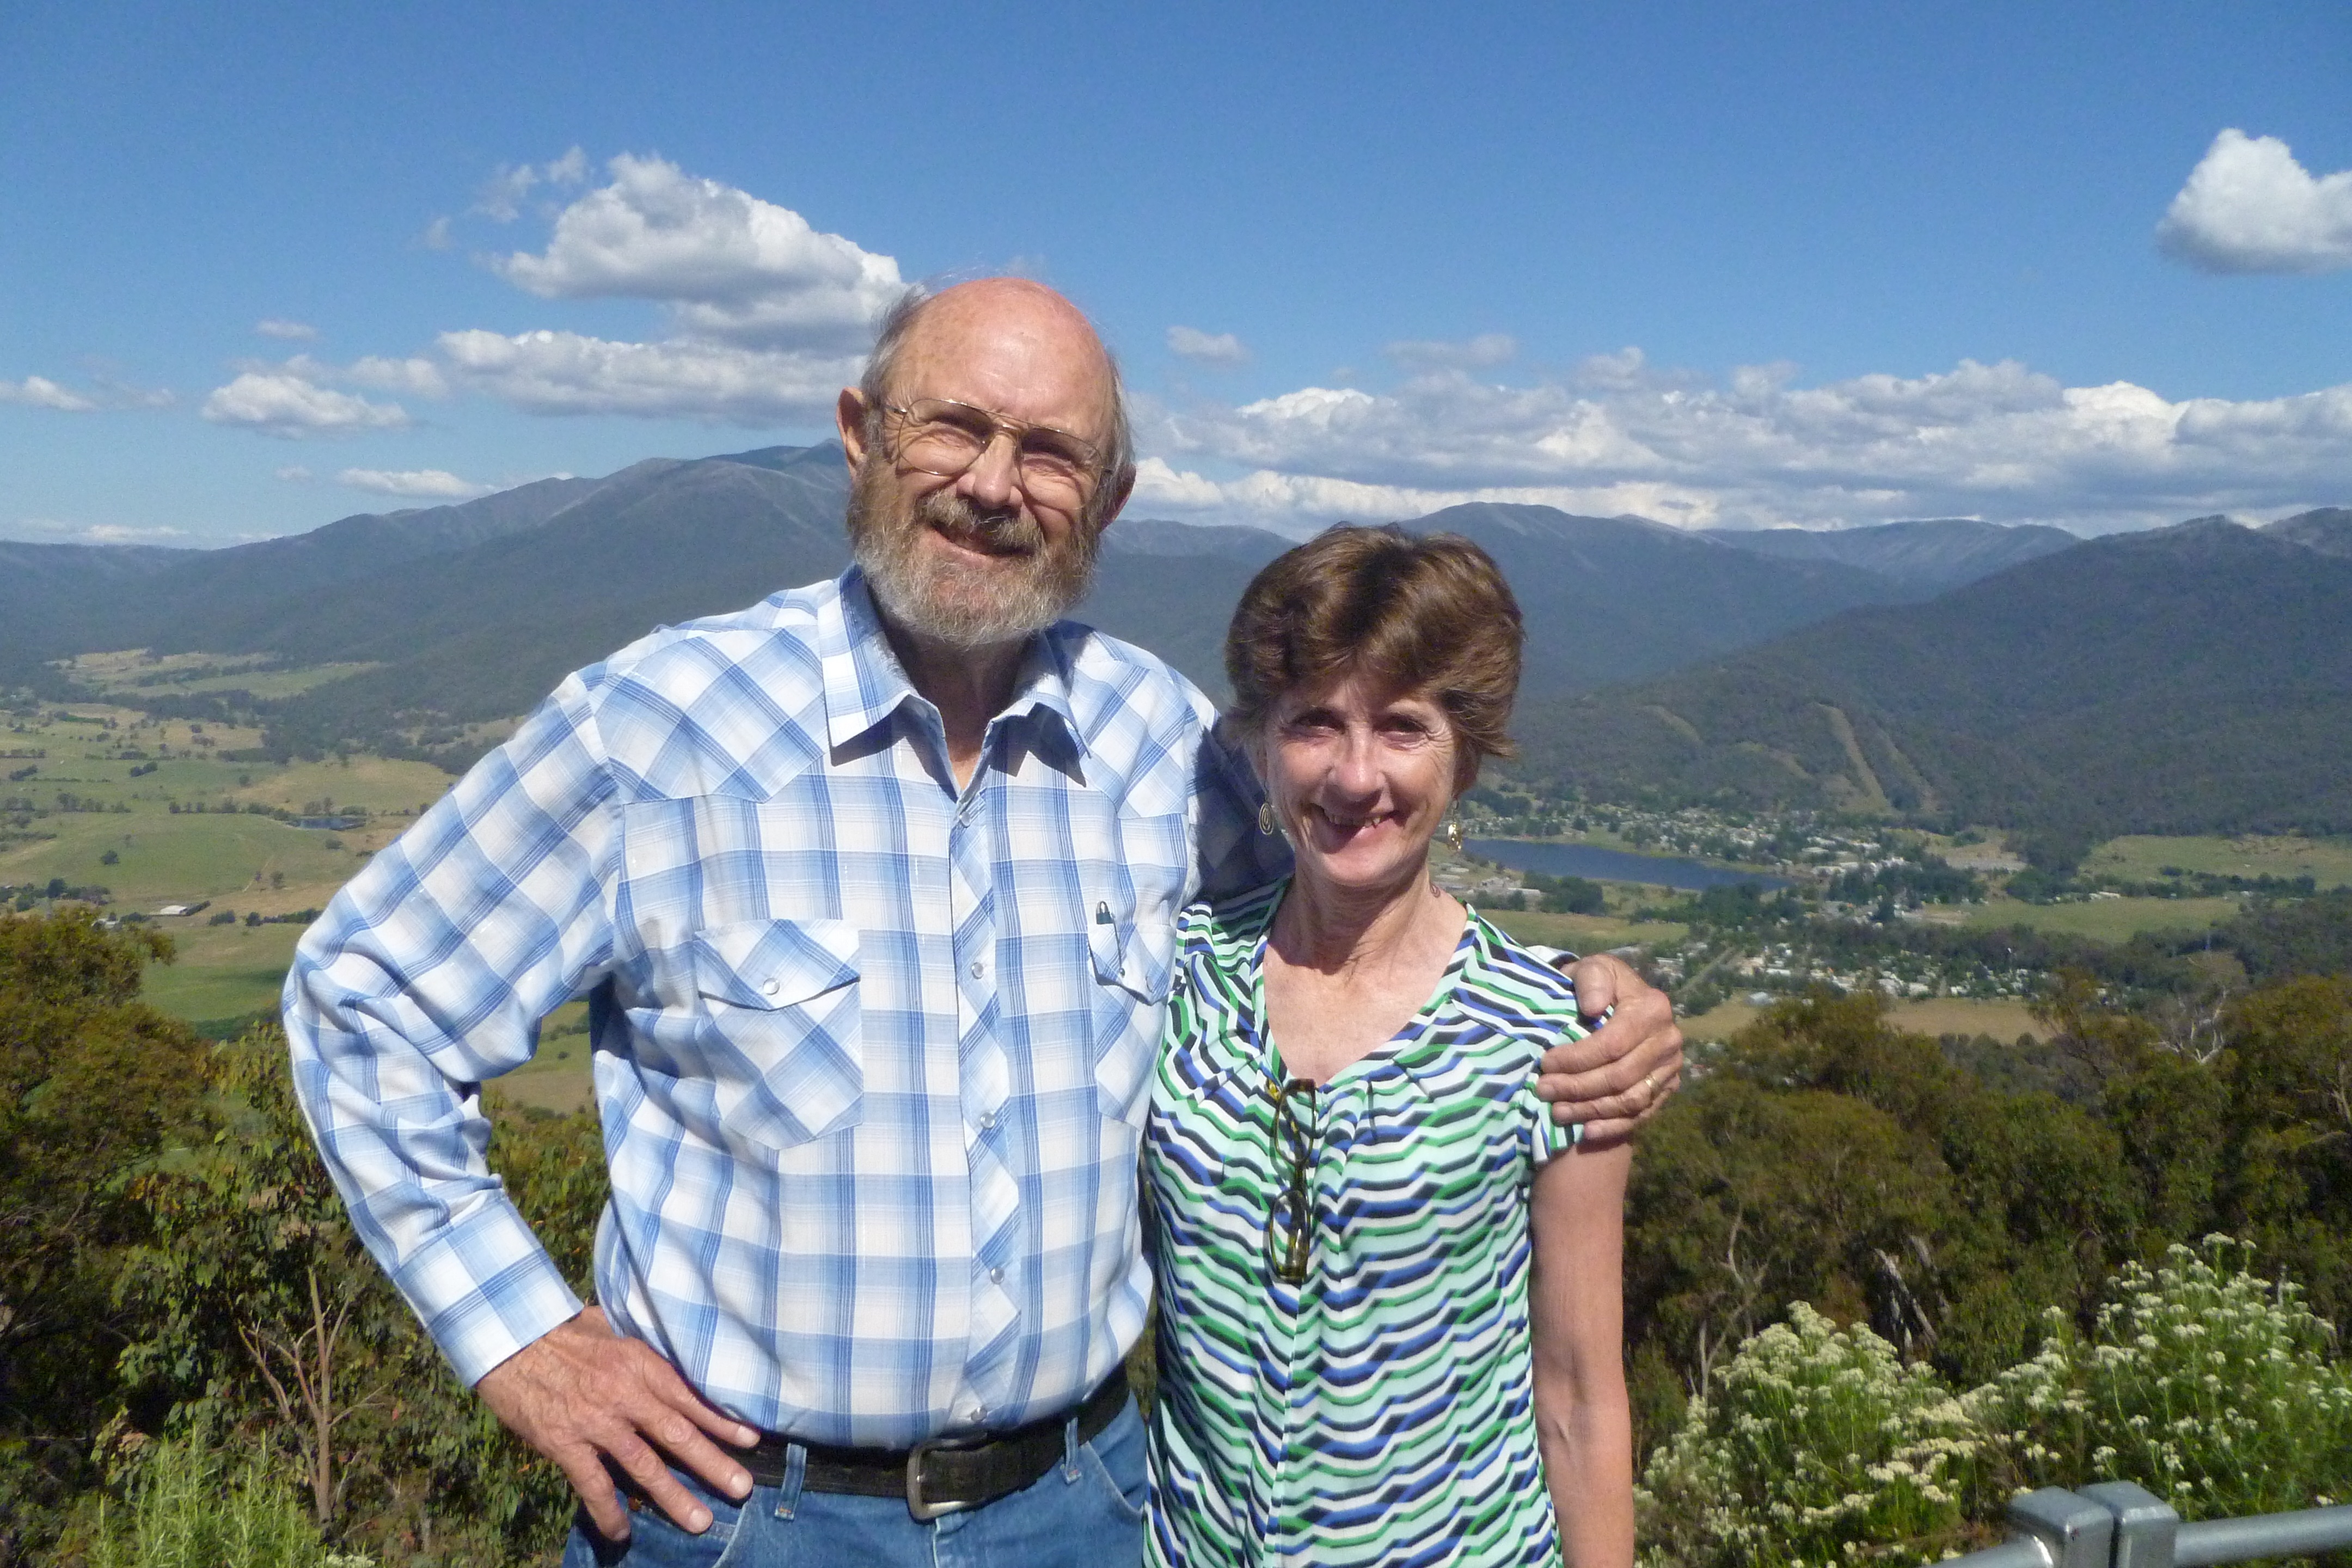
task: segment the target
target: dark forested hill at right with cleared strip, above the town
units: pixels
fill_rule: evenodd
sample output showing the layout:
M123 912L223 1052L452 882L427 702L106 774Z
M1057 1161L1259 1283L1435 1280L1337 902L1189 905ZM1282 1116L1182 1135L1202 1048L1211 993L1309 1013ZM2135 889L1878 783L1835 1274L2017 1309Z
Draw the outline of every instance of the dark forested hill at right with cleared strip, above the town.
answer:
M1522 717L1599 795L1900 811L2070 842L2352 827L2352 559L2201 520L1858 609Z

